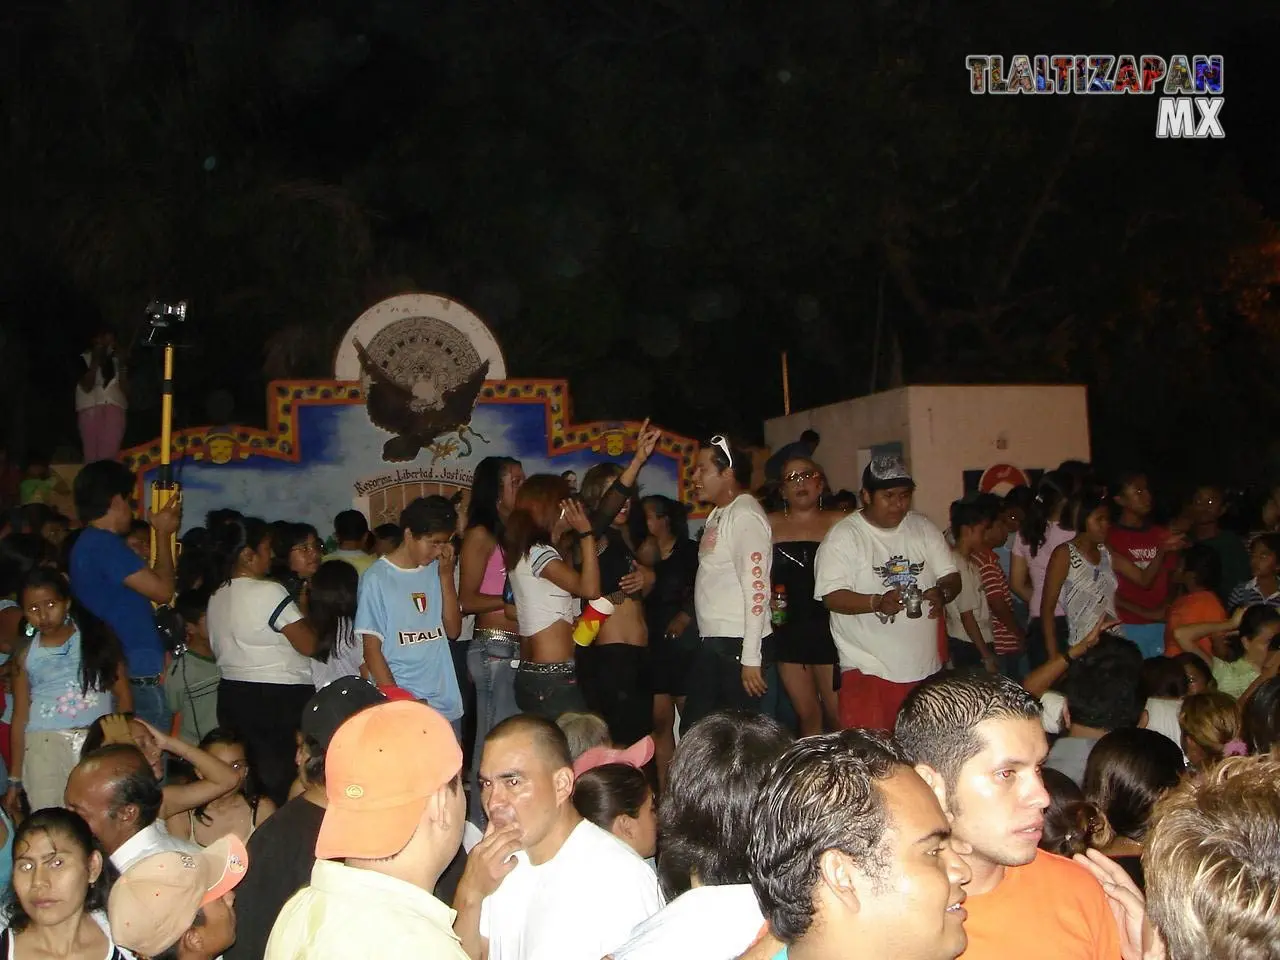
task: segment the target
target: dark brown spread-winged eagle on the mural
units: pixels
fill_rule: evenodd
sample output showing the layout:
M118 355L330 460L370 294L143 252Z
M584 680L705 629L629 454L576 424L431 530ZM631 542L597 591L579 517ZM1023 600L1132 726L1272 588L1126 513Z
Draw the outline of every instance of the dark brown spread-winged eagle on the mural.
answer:
M397 351L396 347L406 344L389 344L388 356L383 358L379 356L378 339L381 339L381 334L374 338L371 349L366 349L360 340L352 342L360 357L361 370L369 378L366 401L369 419L383 430L396 434L383 445L383 460L390 463L412 461L422 448L430 449L434 460L439 460L444 456L444 448L436 444L436 439L452 433L457 434L457 443L448 442L452 447L449 453L461 445L463 456L470 456L470 436L488 443L470 428L476 398L489 375L488 360L465 371L440 370L436 369L438 365L430 362L397 365L396 355L403 351ZM457 362L452 351L438 356L447 364ZM458 380L460 372L461 380Z

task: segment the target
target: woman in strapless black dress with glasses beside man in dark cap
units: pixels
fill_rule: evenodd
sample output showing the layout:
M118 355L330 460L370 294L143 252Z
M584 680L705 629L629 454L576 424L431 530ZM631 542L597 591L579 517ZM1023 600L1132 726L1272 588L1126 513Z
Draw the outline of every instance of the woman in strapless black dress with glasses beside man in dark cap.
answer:
M796 457L782 467L782 512L769 515L773 529L773 650L778 676L800 721L800 736L840 730L836 699L836 644L822 600L814 599L814 558L827 531L844 515L823 509L826 477L812 460ZM786 595L786 618L777 609Z

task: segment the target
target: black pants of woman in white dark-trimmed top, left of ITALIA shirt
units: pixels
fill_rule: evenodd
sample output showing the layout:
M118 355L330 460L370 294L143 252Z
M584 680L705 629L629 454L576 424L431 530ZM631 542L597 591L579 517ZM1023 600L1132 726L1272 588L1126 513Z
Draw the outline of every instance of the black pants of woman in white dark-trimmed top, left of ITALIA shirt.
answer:
M243 740L250 769L259 788L283 806L297 776L294 732L302 708L315 696L310 684L218 684L218 726L234 730Z

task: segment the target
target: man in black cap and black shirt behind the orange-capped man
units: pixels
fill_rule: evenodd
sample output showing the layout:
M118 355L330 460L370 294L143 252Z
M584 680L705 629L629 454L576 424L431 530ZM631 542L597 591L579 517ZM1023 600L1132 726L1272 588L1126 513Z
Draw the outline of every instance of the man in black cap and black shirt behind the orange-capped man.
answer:
M271 927L289 897L311 879L316 837L324 820L324 754L343 722L387 696L367 680L343 677L312 696L302 710L298 769L305 790L248 838L250 870L237 891L236 945L225 960L261 960Z

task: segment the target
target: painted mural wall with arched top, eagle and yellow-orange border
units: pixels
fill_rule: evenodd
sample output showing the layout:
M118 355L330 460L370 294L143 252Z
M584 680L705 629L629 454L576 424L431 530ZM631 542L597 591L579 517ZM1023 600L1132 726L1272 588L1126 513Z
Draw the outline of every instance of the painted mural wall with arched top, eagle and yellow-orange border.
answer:
M456 301L412 294L379 303L339 349L335 372L348 379L271 383L265 430L174 434L184 527L234 507L308 522L325 536L334 515L351 507L376 526L415 497L461 492L465 500L484 457L516 457L530 475L571 470L581 480L595 463L631 456L639 422L575 424L566 381L485 379L493 370L506 371L497 342ZM690 438L664 434L641 492L689 502L695 452ZM123 458L146 503L159 440Z

